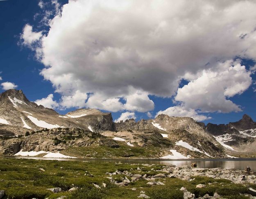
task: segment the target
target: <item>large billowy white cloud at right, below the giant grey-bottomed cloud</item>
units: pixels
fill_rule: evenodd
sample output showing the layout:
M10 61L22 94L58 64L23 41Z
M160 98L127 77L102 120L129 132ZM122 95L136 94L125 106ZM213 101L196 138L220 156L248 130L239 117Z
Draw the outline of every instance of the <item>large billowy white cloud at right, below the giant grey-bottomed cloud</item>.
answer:
M243 93L251 85L251 73L241 66L240 60L219 62L214 69L199 72L195 79L179 88L175 100L184 108L202 112L241 111L229 97Z

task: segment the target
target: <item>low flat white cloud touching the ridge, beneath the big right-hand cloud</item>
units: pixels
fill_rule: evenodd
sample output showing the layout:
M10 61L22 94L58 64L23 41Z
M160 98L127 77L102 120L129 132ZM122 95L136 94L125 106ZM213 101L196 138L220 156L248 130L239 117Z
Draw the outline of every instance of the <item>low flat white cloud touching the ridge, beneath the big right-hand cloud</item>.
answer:
M167 108L164 111L159 111L156 114L156 116L160 114L165 114L165 115L174 116L174 117L192 117L196 121L211 119L211 117L198 114L197 111L193 110L192 108L189 108L188 110L186 110L184 106L172 106L170 108Z

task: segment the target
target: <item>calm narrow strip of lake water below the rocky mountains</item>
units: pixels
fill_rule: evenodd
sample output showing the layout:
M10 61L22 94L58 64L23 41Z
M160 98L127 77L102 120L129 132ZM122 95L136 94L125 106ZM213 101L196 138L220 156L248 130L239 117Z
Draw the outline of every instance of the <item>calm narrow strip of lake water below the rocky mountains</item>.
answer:
M13 156L12 156L13 158ZM245 170L249 166L256 171L256 158L237 158L237 159L182 159L182 160L162 160L162 159L69 159L69 158L45 158L45 157L14 157L25 159L43 159L43 160L60 160L60 161L90 161L90 162L121 162L128 164L164 164L184 166L197 163L198 168L235 168Z

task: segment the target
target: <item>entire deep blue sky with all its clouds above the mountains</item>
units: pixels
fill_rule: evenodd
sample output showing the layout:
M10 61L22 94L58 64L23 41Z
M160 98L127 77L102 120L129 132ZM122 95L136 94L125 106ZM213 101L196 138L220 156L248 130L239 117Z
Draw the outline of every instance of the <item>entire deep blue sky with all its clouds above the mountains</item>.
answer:
M0 0L0 91L118 122L256 120L256 2Z

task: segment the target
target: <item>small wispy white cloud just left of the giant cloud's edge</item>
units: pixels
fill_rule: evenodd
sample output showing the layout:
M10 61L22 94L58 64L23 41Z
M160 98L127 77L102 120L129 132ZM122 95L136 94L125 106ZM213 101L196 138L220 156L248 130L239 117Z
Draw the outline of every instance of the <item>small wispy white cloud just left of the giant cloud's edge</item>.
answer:
M39 41L42 37L42 31L33 32L31 25L26 24L23 28L23 33L20 36L23 45L31 46L34 42Z

